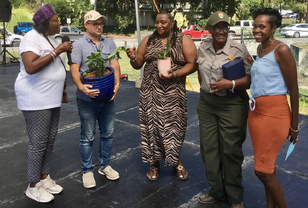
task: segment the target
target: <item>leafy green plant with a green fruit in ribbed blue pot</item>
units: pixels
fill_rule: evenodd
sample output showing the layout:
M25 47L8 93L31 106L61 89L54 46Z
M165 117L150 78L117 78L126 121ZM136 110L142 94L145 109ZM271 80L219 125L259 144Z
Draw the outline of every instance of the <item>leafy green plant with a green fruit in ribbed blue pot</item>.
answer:
M106 102L111 99L115 86L115 75L114 69L106 66L106 63L115 56L121 59L120 51L126 51L124 47L117 47L111 55L104 59L102 57L102 49L103 46L95 53L91 53L91 56L87 57L84 63L89 62L89 70L80 74L83 84L90 84L93 86L92 90L99 90L99 95L95 96L95 98L91 98L94 102Z

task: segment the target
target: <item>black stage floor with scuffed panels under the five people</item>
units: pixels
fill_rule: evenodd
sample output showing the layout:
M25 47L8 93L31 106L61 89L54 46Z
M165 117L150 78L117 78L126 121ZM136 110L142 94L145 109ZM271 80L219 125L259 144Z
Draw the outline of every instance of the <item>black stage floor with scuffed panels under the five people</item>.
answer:
M96 132L94 177L96 187L82 185L79 158L80 123L76 106L75 85L68 72L69 103L61 107L59 132L51 162L51 178L64 187L52 202L43 204L25 195L27 188L28 136L23 114L17 108L14 82L19 65L0 65L0 206L2 207L229 207L225 202L201 205L198 197L209 190L205 165L199 149L199 123L196 111L199 93L188 91L188 125L181 161L188 171L187 180L179 180L172 167L160 167L159 178L149 181L149 165L141 161L138 114L139 89L133 81L121 81L115 100L117 114L111 166L120 179L111 181L98 173L97 151L99 131ZM277 158L277 174L285 191L289 207L308 207L308 116L300 115L300 135L294 152L285 162L289 142ZM273 124L275 125L275 124ZM265 144L266 145L266 144ZM249 133L243 145L244 204L266 207L264 187L254 175L253 148ZM163 164L161 162L161 164Z

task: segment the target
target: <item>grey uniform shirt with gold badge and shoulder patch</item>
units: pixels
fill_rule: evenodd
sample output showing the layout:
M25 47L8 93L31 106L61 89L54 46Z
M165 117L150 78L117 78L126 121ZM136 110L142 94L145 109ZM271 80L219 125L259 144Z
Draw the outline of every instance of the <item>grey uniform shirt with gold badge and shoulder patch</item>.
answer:
M253 60L244 45L228 38L224 48L215 53L212 38L206 38L200 44L197 51L197 63L199 64L202 80L202 90L209 93L211 90L209 83L216 82L217 79L223 78L221 66L230 61L230 55L234 55L234 59L243 59L246 75L250 75L250 68ZM216 94L220 96L227 95L225 90Z

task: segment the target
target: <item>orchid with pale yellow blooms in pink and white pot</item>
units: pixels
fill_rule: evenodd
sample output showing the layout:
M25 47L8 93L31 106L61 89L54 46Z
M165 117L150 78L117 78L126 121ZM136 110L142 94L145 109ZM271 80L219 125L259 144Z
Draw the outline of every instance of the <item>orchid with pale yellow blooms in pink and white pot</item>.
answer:
M176 12L174 14L176 9L172 10L171 17L173 20L176 20L176 26L180 29L183 25L186 27L188 25L188 20L186 20L186 15L184 15L181 12ZM171 20L172 21L172 20ZM171 26L172 27L172 26ZM171 28L169 37L167 38L167 48L165 52L160 52L153 50L153 52L156 52L160 56L153 56L157 59L157 68L158 71L163 73L164 75L168 75L168 69L171 69L171 57L169 56L170 52L170 36L171 36Z

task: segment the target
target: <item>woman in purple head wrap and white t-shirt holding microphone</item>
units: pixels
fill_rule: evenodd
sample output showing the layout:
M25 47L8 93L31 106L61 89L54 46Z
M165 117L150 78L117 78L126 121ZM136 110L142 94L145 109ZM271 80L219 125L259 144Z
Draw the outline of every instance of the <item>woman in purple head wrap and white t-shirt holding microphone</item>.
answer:
M26 195L38 202L50 202L63 188L49 176L52 149L58 132L65 54L72 44L58 44L60 17L50 3L33 15L34 30L20 43L20 72L15 82L17 105L26 120L29 136Z

